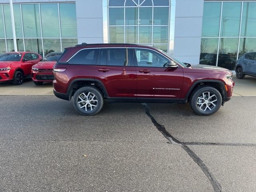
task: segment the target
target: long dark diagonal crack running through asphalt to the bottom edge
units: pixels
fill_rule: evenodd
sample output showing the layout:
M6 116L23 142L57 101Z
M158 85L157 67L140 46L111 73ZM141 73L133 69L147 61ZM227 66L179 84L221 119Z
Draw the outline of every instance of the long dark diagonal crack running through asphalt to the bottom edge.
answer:
M204 162L185 144L174 138L163 125L159 124L156 119L150 114L150 108L148 107L148 104L142 103L142 105L146 109L147 116L151 119L154 126L158 129L159 132L162 133L162 135L170 141L171 144L178 145L182 147L187 154L198 164L198 166L201 168L201 170L204 172L204 174L207 176L207 178L210 180L210 183L212 184L212 187L214 189L214 192L222 192L222 188L218 181L215 179L213 174L210 172L209 168L204 164Z

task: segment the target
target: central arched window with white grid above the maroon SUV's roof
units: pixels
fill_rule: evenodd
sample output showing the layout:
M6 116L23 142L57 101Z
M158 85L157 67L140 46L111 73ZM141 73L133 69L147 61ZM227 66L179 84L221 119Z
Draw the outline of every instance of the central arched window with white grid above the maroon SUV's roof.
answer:
M168 52L169 0L109 0L110 43L135 43Z

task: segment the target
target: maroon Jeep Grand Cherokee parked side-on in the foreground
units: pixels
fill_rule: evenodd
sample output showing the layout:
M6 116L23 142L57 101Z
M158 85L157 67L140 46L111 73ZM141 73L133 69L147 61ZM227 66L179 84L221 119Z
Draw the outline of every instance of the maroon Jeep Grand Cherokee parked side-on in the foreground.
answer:
M179 62L162 50L137 44L81 44L66 48L54 66L54 94L83 115L108 102L190 102L199 115L230 100L230 70Z

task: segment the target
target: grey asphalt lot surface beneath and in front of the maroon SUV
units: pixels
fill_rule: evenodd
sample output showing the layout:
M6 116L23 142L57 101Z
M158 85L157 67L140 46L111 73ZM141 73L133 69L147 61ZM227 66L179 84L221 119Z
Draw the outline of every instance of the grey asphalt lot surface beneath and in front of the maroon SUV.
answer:
M81 116L54 96L0 106L1 191L256 190L256 97L204 117L188 104L108 103Z

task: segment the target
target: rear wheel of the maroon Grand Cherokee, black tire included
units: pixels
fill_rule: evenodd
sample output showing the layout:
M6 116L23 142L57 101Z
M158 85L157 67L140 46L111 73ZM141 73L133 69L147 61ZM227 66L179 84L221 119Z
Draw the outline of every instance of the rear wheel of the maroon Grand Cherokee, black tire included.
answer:
M89 92L91 94L89 94ZM94 101L95 99L93 97L96 98L97 102ZM82 98L82 100L80 98ZM87 100L87 98L89 100ZM92 101L90 102L90 100ZM98 88L94 86L86 86L78 89L72 98L72 102L73 102L74 108L80 114L87 115L87 116L95 115L98 112L100 112L104 104L102 93L100 92L100 90L98 90ZM78 102L80 102L80 104L78 104Z

